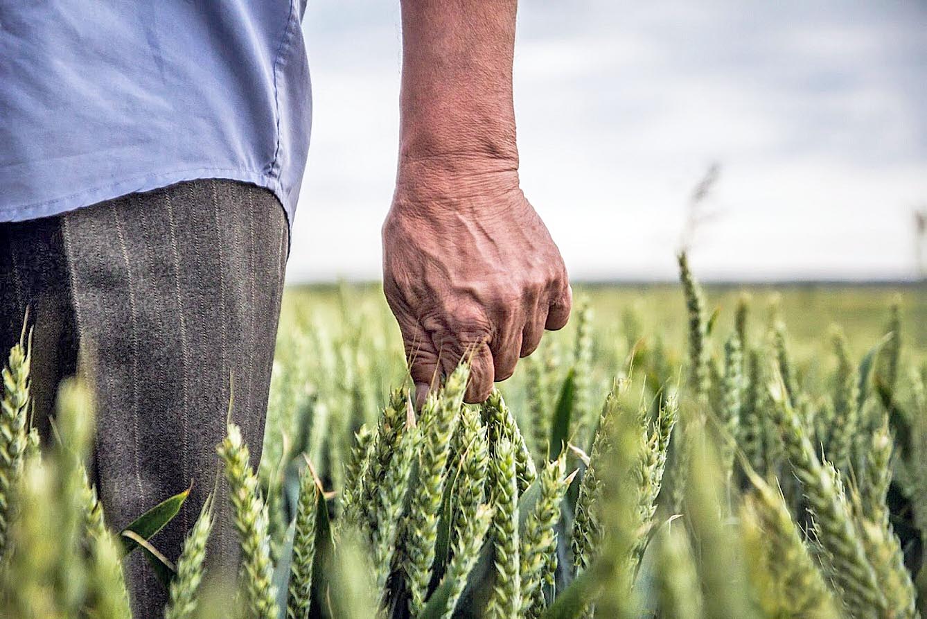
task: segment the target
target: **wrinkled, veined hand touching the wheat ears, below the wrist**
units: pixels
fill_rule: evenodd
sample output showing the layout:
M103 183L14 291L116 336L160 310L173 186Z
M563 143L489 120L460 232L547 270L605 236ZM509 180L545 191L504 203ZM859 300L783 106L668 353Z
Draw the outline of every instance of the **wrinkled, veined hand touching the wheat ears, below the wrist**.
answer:
M572 291L560 251L518 187L516 165L400 164L383 226L383 281L421 405L461 358L465 400L512 376L544 329L561 329Z

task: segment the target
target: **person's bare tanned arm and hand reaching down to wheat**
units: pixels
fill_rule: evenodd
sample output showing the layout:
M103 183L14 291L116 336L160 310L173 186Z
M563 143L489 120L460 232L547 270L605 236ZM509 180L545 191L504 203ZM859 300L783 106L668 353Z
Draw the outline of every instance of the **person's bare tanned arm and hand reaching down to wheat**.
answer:
M519 187L512 100L517 0L402 0L400 155L383 225L387 302L421 404L462 357L482 402L572 292Z

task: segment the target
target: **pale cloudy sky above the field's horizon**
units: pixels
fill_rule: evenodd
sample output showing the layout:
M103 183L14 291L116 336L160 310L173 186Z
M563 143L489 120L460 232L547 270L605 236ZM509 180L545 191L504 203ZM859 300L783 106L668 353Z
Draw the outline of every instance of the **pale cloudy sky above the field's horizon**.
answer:
M312 0L309 164L288 279L380 277L399 135L398 0ZM917 274L927 3L522 0L527 198L576 280Z

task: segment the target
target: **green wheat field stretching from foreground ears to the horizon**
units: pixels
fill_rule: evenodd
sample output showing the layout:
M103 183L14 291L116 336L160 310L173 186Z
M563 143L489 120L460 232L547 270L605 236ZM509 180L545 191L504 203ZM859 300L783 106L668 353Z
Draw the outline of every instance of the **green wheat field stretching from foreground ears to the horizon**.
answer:
M287 292L260 467L217 445L241 546L210 579L211 501L111 531L84 461L86 388L59 440L29 420L28 338L0 409L0 616L128 619L146 553L165 617L903 618L927 595L927 292L916 286L577 287L481 406L457 368L414 410L375 287ZM222 614L222 617L228 616Z

